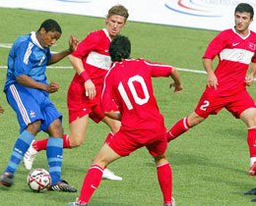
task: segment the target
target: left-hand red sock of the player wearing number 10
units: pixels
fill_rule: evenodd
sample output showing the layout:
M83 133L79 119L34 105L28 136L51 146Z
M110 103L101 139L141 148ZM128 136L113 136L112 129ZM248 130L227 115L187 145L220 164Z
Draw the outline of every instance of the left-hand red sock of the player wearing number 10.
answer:
M92 165L83 182L79 204L87 204L94 194L96 187L99 185L102 178L103 170L97 165Z

